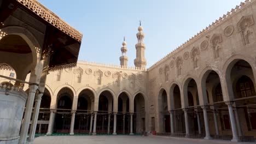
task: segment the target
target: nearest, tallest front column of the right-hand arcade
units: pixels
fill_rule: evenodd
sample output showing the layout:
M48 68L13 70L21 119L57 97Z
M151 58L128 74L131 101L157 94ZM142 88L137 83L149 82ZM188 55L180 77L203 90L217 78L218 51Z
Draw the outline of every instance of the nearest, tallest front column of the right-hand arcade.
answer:
M235 123L235 116L234 116L234 113L233 113L232 104L233 104L232 101L226 102L226 105L228 105L228 108L229 108L229 117L230 117L232 134L233 134L233 139L231 141L238 142L240 140L239 140L239 138L237 136L237 132L236 132L236 123Z

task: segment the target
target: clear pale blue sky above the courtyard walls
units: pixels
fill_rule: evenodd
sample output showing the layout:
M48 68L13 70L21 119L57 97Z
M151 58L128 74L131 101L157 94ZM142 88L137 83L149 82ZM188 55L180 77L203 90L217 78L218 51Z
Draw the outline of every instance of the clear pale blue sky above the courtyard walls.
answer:
M183 44L241 0L38 0L83 33L79 60L119 65L126 37L134 67L139 20L147 68Z

